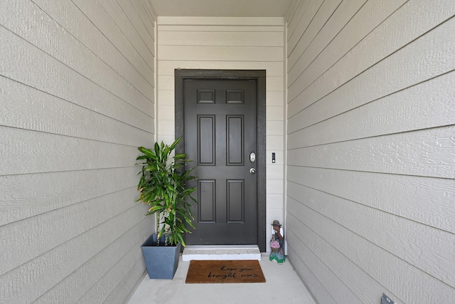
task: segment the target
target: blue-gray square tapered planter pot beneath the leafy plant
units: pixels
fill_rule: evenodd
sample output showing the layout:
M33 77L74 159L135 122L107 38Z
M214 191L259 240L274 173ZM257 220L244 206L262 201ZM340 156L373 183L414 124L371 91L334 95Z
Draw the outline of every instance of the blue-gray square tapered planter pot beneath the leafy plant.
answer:
M141 248L149 278L173 278L178 267L180 243L177 246L156 246L156 234L152 234Z

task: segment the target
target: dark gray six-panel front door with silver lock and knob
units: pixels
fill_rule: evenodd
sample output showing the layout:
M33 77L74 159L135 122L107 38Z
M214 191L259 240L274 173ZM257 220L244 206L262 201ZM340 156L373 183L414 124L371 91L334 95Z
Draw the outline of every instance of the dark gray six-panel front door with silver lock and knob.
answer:
M258 243L258 80L183 79L183 150L197 166L188 244ZM259 228L260 230L260 228ZM260 238L262 239L262 238Z

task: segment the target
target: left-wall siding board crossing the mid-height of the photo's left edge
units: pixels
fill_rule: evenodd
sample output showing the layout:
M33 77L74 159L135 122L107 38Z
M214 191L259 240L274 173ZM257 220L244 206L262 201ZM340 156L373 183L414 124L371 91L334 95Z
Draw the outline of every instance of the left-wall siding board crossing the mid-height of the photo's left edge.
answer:
M4 175L129 167L128 155L138 154L137 147L127 145L11 127L0 130L0 166Z

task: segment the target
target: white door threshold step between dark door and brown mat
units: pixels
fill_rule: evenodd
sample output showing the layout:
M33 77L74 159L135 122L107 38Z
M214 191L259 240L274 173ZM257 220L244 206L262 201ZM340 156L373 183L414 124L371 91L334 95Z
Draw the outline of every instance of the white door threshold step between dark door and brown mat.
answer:
M188 245L182 253L182 261L192 260L257 260L261 252L257 245Z

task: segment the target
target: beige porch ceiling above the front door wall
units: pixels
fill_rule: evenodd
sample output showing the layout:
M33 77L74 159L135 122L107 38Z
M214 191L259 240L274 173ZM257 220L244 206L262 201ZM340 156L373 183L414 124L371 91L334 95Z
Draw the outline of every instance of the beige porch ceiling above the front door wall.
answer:
M158 16L284 17L295 0L150 0Z

